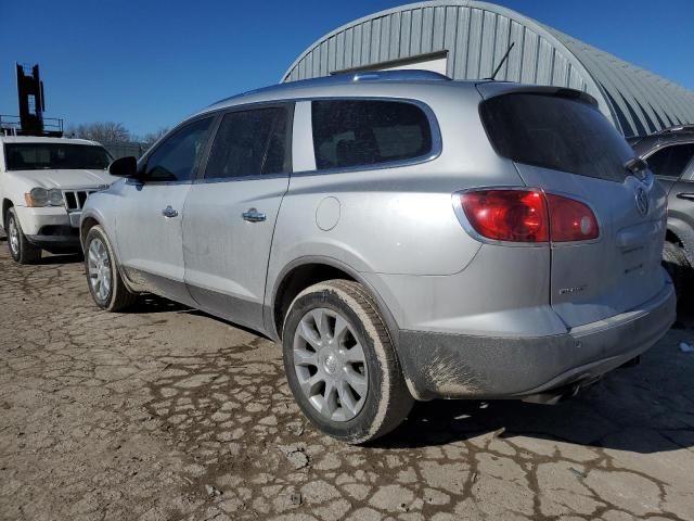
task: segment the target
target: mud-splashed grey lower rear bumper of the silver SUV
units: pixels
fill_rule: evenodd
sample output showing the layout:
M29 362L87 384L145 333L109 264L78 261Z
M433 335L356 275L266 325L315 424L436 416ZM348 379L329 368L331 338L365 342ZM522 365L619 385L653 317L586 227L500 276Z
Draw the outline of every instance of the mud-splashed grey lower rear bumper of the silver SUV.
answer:
M672 284L631 312L536 338L400 331L399 355L417 399L522 398L593 380L639 356L676 318Z

